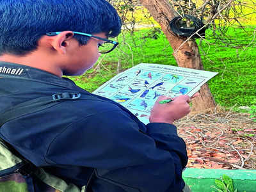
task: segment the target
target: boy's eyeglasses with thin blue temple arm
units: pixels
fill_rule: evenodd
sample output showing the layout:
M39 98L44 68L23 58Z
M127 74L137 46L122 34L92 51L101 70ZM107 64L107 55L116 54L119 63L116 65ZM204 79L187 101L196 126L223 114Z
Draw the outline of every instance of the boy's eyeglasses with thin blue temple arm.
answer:
M118 45L118 42L115 42L113 40L109 40L108 38L102 38L100 36L95 36L95 35L91 35L91 34L88 34L88 33L81 33L81 32L76 32L76 31L72 31L74 34L77 34L77 35L84 35L84 36L90 36L90 37L93 37L93 38L97 38L99 40L102 40L104 41L103 44L98 44L98 47L99 47L99 53L108 53L108 52L111 52L113 51L116 46ZM49 33L46 33L46 35L48 36L54 36L54 35L59 35L61 32L49 32Z

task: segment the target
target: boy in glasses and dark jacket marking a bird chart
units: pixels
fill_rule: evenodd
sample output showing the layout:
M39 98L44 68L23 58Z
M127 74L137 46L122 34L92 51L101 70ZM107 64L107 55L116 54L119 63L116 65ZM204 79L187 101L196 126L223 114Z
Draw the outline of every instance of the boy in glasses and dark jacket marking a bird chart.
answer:
M0 15L0 112L38 98L65 100L9 120L0 129L3 140L87 191L184 189L188 157L173 122L189 113L187 95L157 101L145 125L119 104L61 78L83 74L100 52L115 49L108 38L120 33L121 22L107 1L4 0Z

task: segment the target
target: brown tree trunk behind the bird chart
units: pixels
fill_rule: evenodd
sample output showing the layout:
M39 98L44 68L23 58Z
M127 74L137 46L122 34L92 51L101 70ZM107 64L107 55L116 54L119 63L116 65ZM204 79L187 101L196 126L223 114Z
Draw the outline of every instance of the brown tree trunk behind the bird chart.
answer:
M154 20L159 23L161 29L166 35L173 49L173 56L179 67L195 68L203 70L201 56L198 45L191 39L180 47L186 41L186 38L180 37L170 31L169 23L177 13L166 0L140 0L141 4L147 8ZM192 111L204 111L208 108L214 108L216 103L209 90L208 84L204 84L200 89L200 96L192 100Z

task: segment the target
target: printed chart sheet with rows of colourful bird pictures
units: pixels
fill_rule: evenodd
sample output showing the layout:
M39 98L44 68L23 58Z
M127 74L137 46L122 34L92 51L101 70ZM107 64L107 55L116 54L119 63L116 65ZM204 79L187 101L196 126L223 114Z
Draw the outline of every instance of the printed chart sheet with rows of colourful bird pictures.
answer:
M150 111L160 95L191 97L216 74L218 72L141 63L113 77L93 93L118 102L148 124Z

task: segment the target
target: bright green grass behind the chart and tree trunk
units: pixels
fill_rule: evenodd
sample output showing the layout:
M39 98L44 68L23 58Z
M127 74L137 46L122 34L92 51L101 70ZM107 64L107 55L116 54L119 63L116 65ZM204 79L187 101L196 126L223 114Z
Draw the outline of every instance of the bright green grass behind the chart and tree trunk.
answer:
M158 35L157 39L152 38ZM211 30L207 30L208 42L200 45L200 54L204 69L219 72L218 76L209 81L212 95L221 106L252 106L256 104L256 45L250 44L244 50L244 45L253 39L253 28L230 28L228 38L236 42L239 48L223 47L220 42L214 43ZM101 84L116 75L118 60L122 70L132 67L132 64L158 63L177 66L172 56L172 48L163 33L152 33L152 30L143 29L134 35L118 36L121 44L118 49L104 58L102 65L95 71L89 70L83 76L71 77L82 88L92 92ZM125 40L125 43L123 42ZM209 45L209 43L212 43ZM214 44L214 45L213 45ZM97 63L95 64L95 66Z

